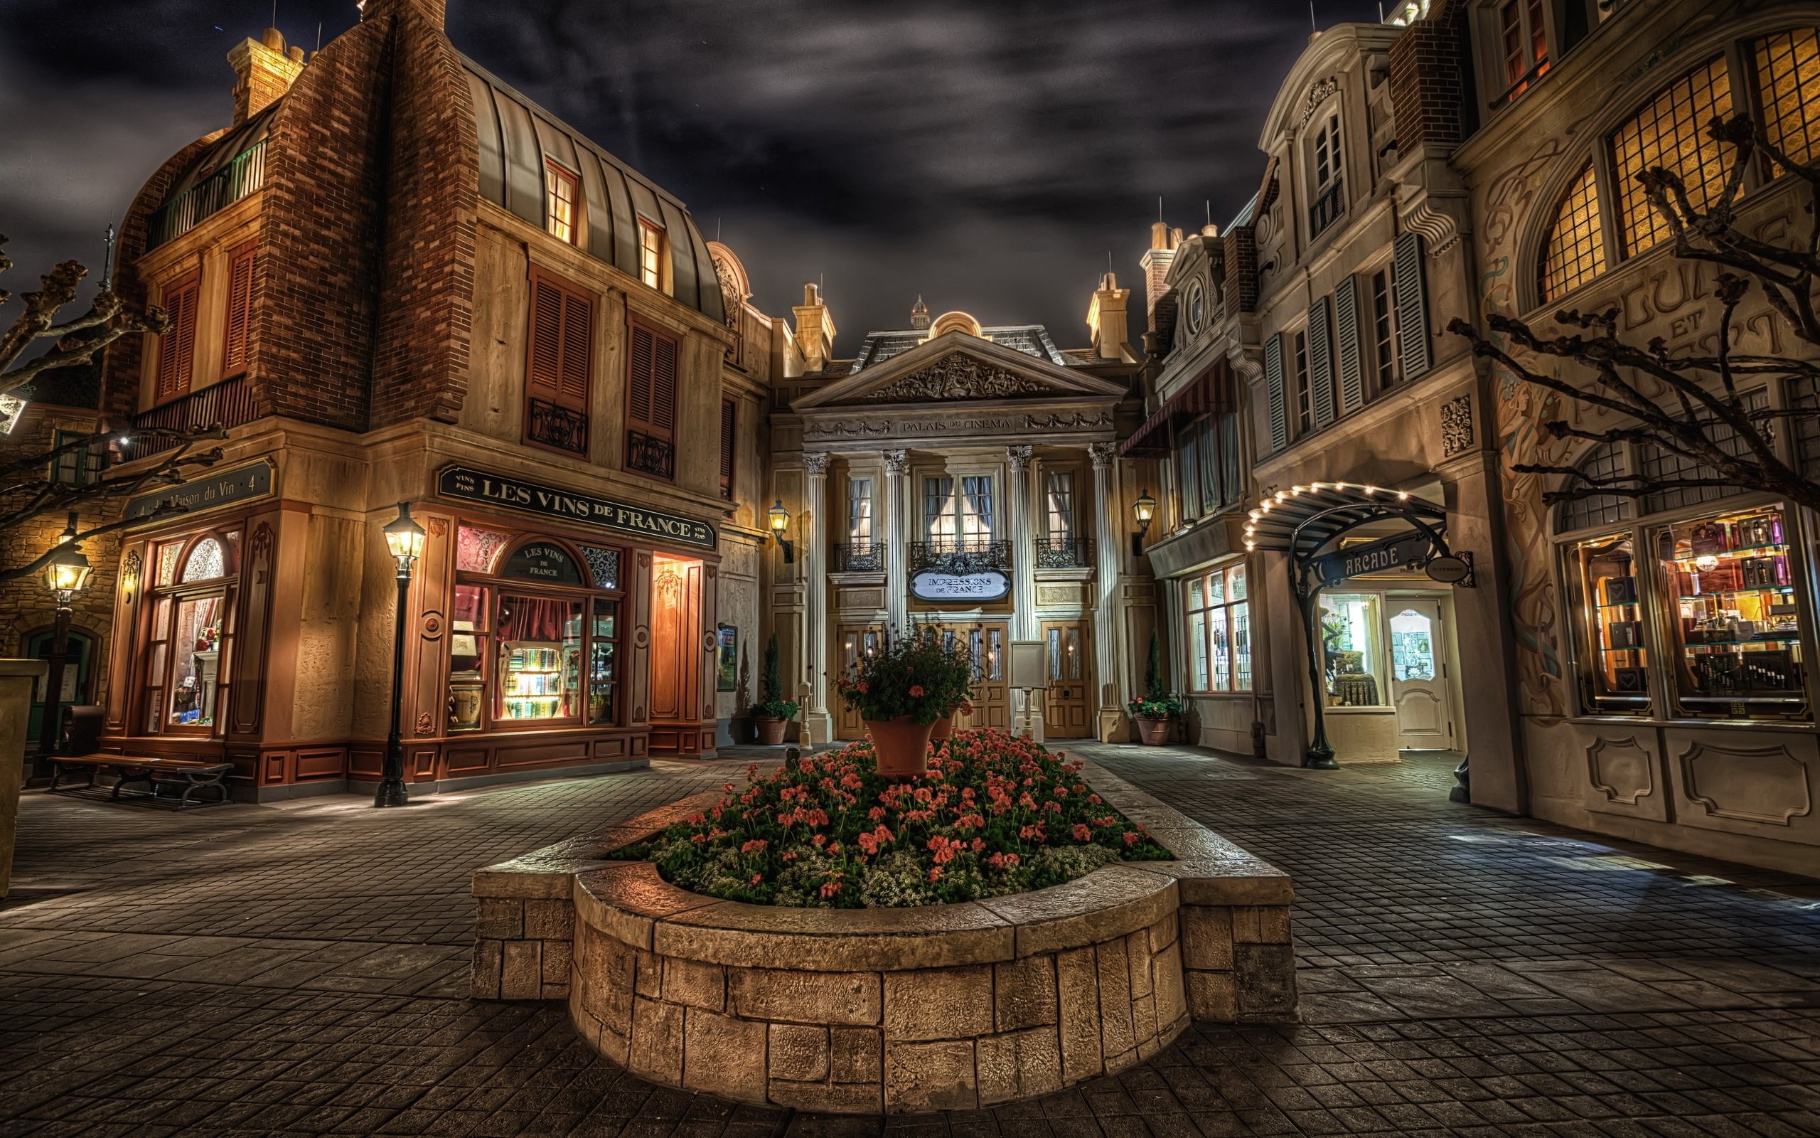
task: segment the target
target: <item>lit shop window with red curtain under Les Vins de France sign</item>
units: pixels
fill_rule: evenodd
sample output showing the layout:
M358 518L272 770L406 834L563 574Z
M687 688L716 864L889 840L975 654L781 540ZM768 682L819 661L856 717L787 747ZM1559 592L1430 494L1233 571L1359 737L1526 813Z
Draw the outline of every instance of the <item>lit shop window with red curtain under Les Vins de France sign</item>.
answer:
M457 530L451 732L621 721L621 552Z

